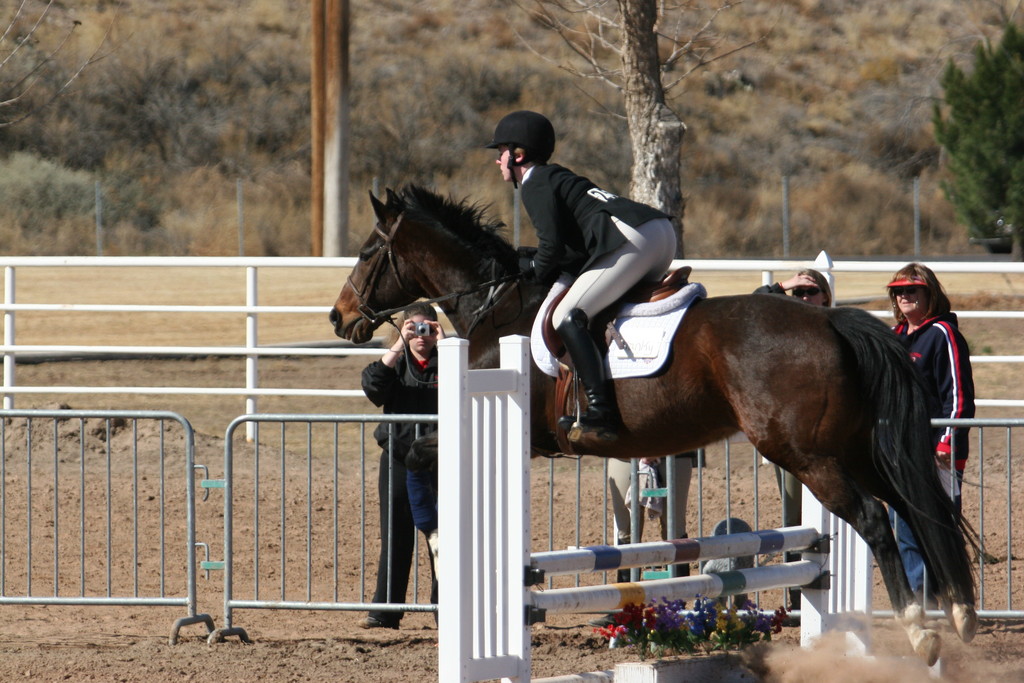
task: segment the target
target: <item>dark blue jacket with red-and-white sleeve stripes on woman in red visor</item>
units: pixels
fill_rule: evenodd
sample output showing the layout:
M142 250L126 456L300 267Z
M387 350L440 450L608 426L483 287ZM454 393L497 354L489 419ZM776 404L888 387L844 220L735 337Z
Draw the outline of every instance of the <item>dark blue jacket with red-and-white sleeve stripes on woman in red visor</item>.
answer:
M955 313L945 313L925 321L907 334L906 323L893 331L910 353L928 388L928 412L932 418L974 417L974 376L971 351L959 333ZM956 469L963 471L968 456L968 430L951 427L933 430L935 450L949 453L956 445Z

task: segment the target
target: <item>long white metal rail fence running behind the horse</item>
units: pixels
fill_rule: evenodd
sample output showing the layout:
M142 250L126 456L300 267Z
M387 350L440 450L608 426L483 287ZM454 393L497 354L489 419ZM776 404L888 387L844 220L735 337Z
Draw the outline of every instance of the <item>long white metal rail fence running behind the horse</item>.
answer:
M354 348L354 347L333 347L317 345L315 343L299 342L295 345L260 345L257 335L257 319L263 314L316 314L321 315L329 310L329 301L324 305L267 305L260 304L260 292L257 287L257 273L263 268L334 268L347 269L352 267L356 259L350 257L343 258L319 258L319 257L83 257L83 256L8 256L0 257L0 266L4 269L4 295L3 302L0 303L0 310L3 311L3 343L0 344L0 353L3 354L3 408L13 408L13 397L16 394L72 394L72 393L136 393L136 394L219 394L225 396L245 396L246 412L255 413L255 398L257 396L335 396L335 397L361 397L362 392L357 387L341 389L321 389L311 387L300 388L274 388L258 386L257 367L260 356L344 356L344 355L375 355L380 352L379 348ZM927 261L940 275L951 273L999 273L1008 283L1005 290L999 293L1017 294L1024 291L1024 263L1006 261ZM792 272L802 267L812 266L826 274L834 286L834 294L837 300L852 302L858 299L867 300L878 298L878 293L882 286L873 287L870 296L865 295L861 288L858 292L854 287L847 287L847 273L891 273L894 268L892 261L833 261L827 254L822 252L817 259L751 259L751 260L687 260L677 261L678 265L690 265L698 273L695 280L700 280L709 273L716 272L748 272L752 275L760 273L762 283L771 283L775 272ZM18 300L16 296L17 282L16 273L20 269L27 268L239 268L244 269L245 279L245 303L238 305L225 304L197 304L197 303L175 303L175 304L138 304L138 303L45 303ZM1022 285L1018 289L1012 282L1020 279ZM851 281L852 282L852 279ZM341 278L335 285L340 289ZM719 291L712 289L714 294L733 294L749 292L753 287L749 287L750 281L738 281L725 283L718 286ZM730 289L731 288L731 289ZM846 288L846 289L844 289ZM337 290L335 290L336 292ZM328 296L333 296L331 292ZM845 297L845 298L842 298ZM265 298L264 298L265 301ZM27 314L32 312L70 312L88 311L99 313L117 312L157 312L167 314L179 313L220 313L220 314L244 314L245 315L245 343L241 346L231 345L202 345L202 346L181 346L181 345L139 345L139 344L117 344L117 345L89 345L89 344L19 344L15 335L16 314ZM871 311L880 317L886 317L890 313L888 310ZM958 310L957 314L963 318L969 317L990 317L990 318L1022 318L1024 311L970 311ZM325 323L325 327L326 327ZM17 386L15 381L15 359L18 355L23 357L33 353L55 353L55 354L90 354L90 353L118 353L124 355L154 355L154 354L203 354L220 356L240 356L246 360L246 383L244 387L95 387L95 386ZM976 364L1008 362L1022 364L1024 355L973 355L971 357ZM978 399L979 405L1001 405L1024 408L1024 400L983 398Z

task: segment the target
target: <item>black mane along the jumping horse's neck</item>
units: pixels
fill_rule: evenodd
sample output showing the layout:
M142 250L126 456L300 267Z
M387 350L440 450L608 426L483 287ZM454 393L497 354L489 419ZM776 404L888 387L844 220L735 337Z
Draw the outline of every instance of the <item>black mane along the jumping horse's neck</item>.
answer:
M518 267L515 250L503 234L505 223L488 217L487 207L441 197L415 184L402 187L398 198L409 218L447 231L482 258L498 261L506 271Z

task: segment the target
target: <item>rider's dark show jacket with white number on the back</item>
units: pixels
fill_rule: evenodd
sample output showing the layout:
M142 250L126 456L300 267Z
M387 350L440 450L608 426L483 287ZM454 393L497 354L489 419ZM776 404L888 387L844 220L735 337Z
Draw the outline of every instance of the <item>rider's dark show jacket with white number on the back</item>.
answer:
M668 215L605 191L558 164L535 166L522 183L522 204L537 230L535 276L553 282L562 272L573 278L600 256L626 243L611 217L634 227Z

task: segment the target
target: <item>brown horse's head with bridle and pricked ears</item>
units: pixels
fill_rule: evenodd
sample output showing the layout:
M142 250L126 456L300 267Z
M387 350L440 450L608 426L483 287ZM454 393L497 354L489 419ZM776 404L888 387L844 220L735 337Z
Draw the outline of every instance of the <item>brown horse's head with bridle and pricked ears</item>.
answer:
M403 261L396 251L400 250L404 203L391 189L387 190L387 203L373 193L370 201L377 223L359 248L359 260L330 314L335 334L356 344L370 341L374 330L388 318L387 314L381 315L382 311L424 296L416 264L411 259Z

